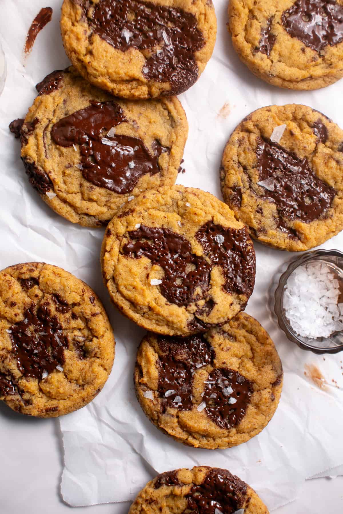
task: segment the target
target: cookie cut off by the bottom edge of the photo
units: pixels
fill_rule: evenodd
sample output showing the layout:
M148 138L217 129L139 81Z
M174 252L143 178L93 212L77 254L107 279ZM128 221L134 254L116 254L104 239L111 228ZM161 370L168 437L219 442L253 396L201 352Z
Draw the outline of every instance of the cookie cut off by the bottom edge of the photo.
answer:
M256 492L226 469L208 466L157 475L138 493L129 514L268 514Z

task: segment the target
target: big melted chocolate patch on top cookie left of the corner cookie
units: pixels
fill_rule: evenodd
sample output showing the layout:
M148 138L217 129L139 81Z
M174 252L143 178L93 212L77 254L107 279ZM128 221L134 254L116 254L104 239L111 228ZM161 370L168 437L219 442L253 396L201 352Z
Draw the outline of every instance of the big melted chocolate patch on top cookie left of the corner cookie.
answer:
M196 81L194 53L205 45L193 14L179 8L137 0L102 0L84 13L94 33L121 51L151 50L142 68L148 80L169 82L168 95L182 93ZM149 52L150 54L150 52Z

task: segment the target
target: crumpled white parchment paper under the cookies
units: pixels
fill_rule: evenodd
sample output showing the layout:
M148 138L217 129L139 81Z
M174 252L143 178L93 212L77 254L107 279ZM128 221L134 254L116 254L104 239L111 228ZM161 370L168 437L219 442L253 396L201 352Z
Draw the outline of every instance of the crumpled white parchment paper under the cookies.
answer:
M0 33L8 65L0 97L1 267L45 261L74 273L104 302L117 341L113 371L102 393L89 406L60 419L65 460L61 492L65 502L77 506L133 500L156 473L206 464L238 474L273 510L295 499L305 479L341 474L343 354L323 357L300 350L285 338L267 309L270 280L280 264L292 256L286 252L255 245L256 286L246 308L275 341L284 368L280 405L266 429L236 448L201 450L161 434L142 413L132 374L144 332L115 311L102 285L99 252L104 229L73 225L43 204L28 184L20 144L8 131L9 122L24 117L31 105L34 84L53 69L68 65L58 25L61 2L52 0L49 5L53 8L52 22L39 34L24 62L25 35L42 2L1 3ZM215 0L218 36L213 57L201 79L180 96L190 130L184 155L187 171L177 181L219 198L224 145L233 128L254 109L304 103L343 127L342 82L308 93L278 89L255 78L232 49L226 8L227 0ZM343 234L322 247L342 250ZM318 366L328 383L326 390L318 389L304 376L305 364Z

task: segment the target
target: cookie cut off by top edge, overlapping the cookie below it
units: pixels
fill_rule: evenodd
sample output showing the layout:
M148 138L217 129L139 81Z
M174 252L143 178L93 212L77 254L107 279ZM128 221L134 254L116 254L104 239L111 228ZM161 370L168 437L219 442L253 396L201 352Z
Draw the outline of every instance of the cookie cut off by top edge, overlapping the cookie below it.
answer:
M210 59L212 0L64 0L61 34L80 74L129 99L178 95Z

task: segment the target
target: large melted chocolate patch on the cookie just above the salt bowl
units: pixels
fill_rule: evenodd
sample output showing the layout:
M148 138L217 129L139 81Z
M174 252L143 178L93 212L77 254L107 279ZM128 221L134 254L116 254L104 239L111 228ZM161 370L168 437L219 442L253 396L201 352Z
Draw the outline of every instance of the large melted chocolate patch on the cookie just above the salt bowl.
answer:
M274 181L264 188L264 198L276 204L281 227L282 217L311 223L330 208L336 191L314 174L306 157L300 159L279 144L262 139L256 156L259 180Z

